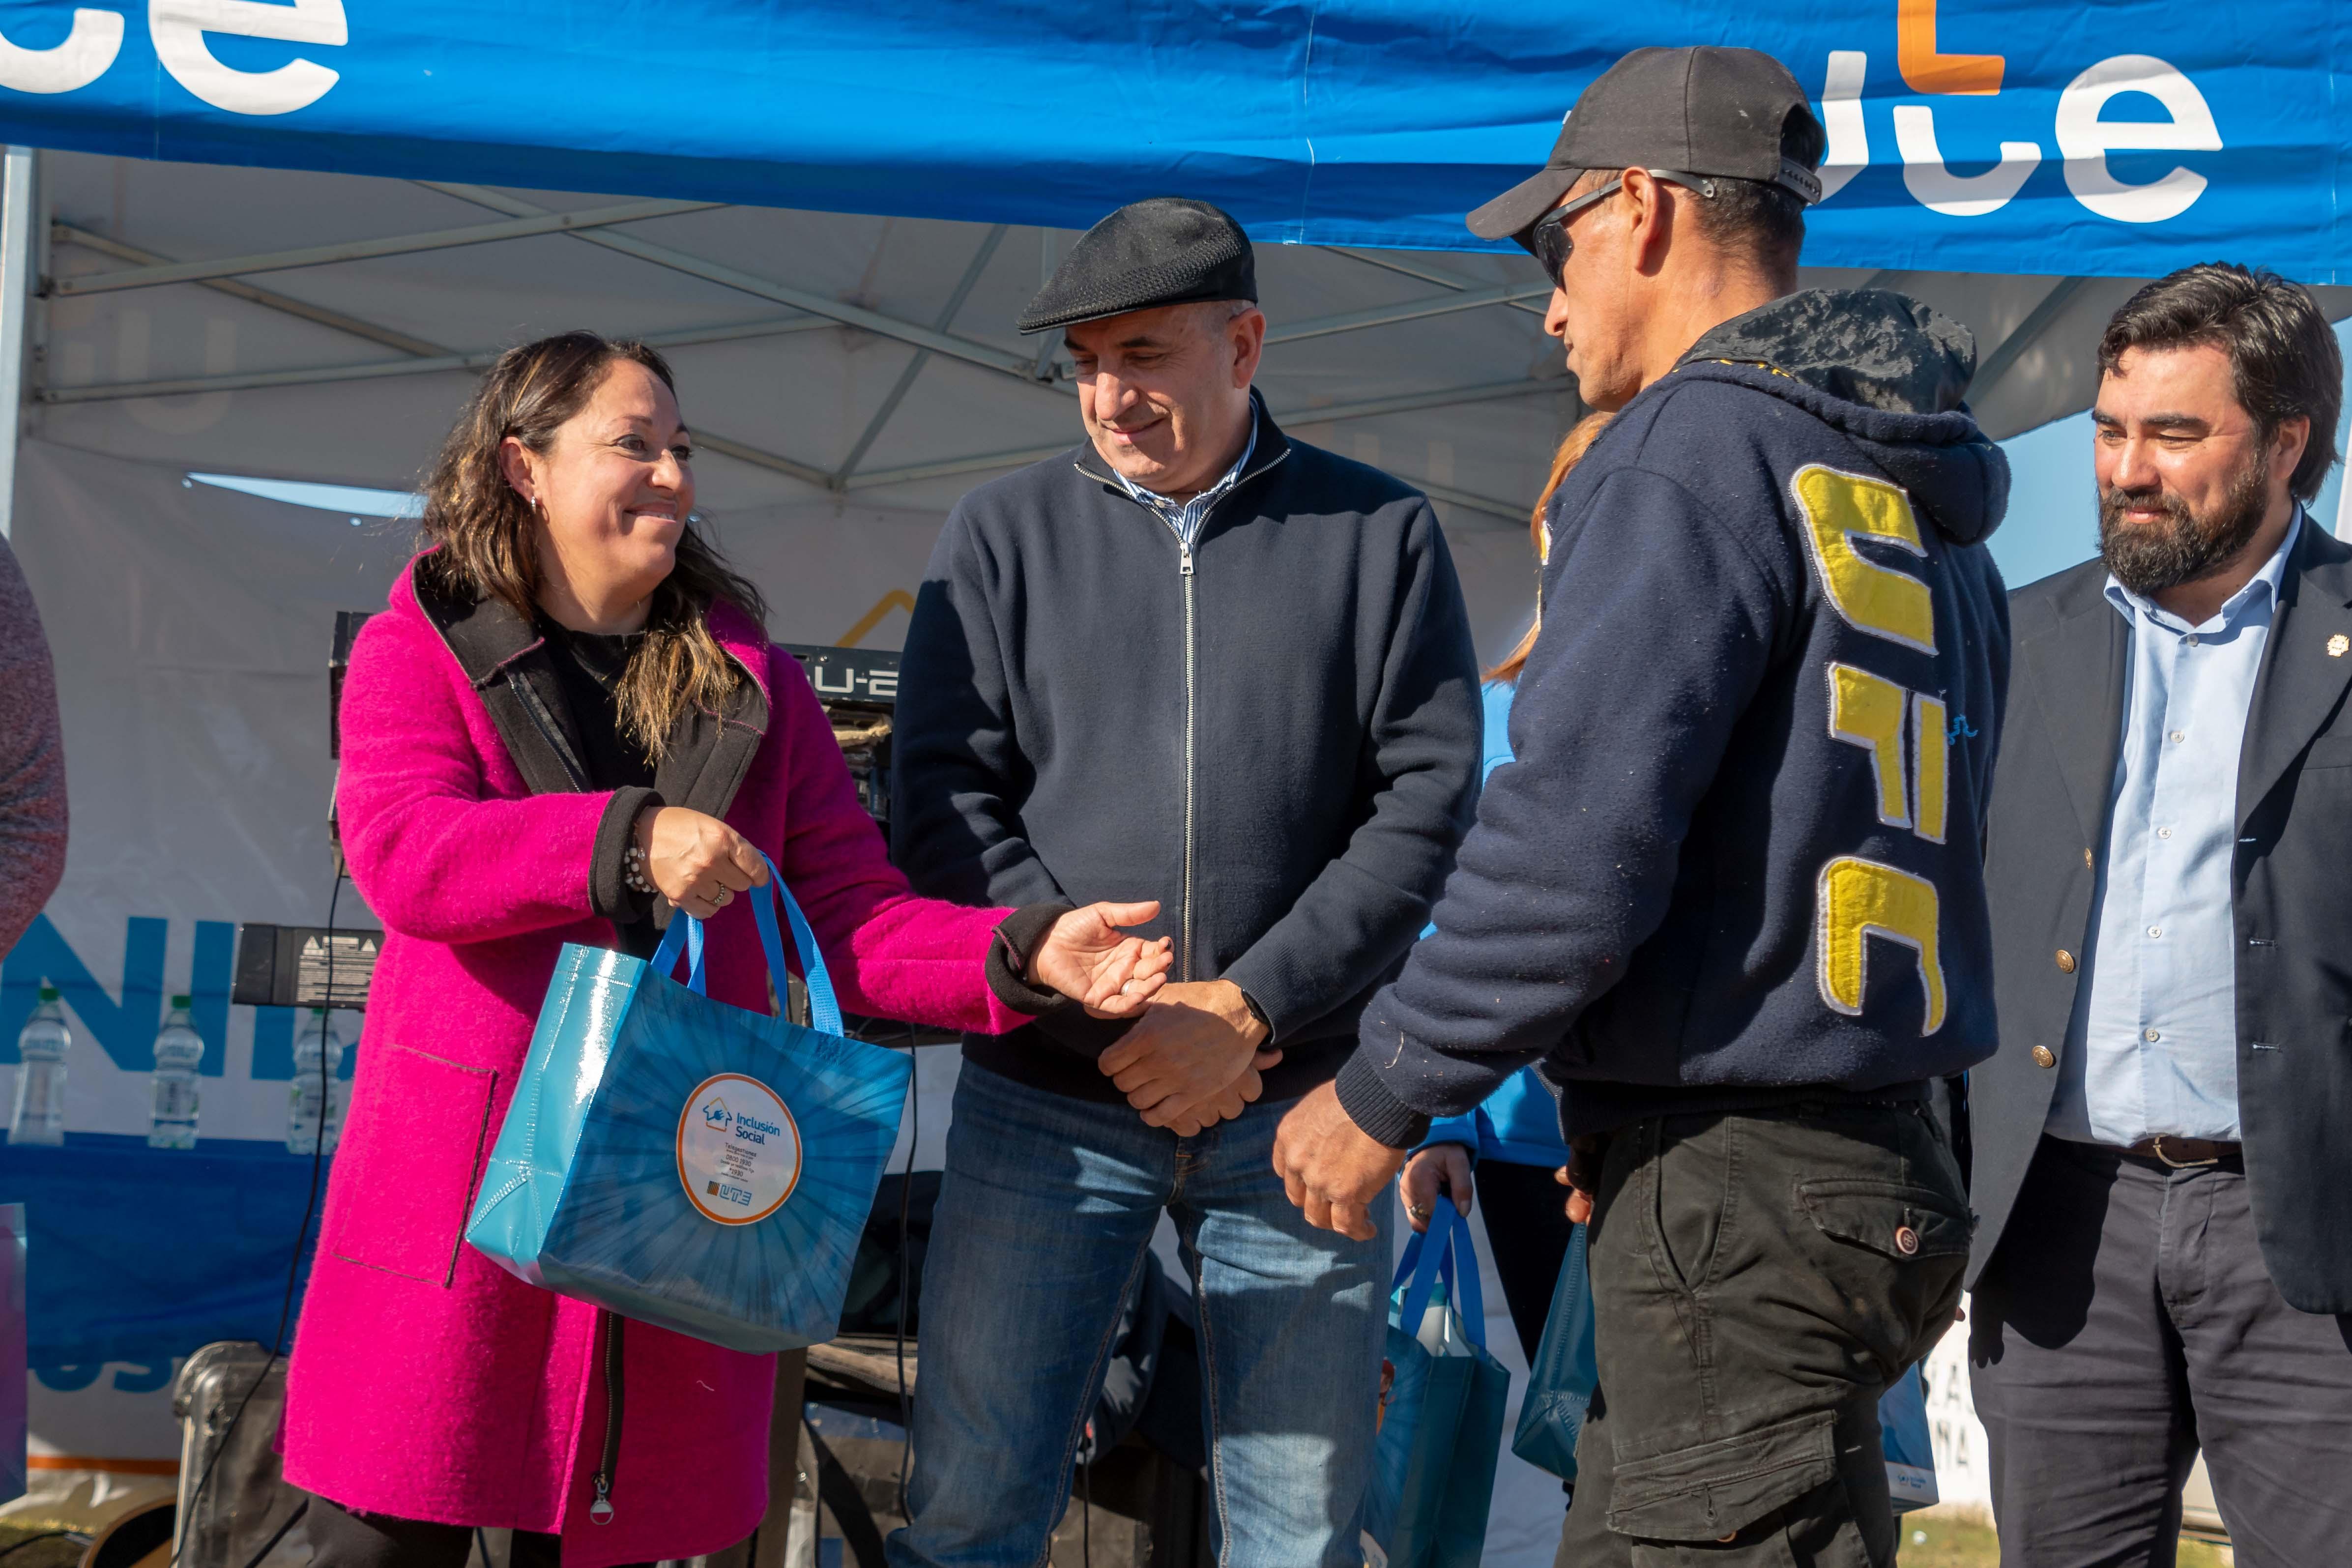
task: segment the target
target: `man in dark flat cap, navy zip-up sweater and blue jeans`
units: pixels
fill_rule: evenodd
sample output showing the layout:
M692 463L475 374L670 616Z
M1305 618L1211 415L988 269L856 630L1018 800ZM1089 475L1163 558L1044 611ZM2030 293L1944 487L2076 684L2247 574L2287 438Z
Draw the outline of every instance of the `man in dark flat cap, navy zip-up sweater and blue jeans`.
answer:
M1063 1011L964 1041L898 1566L1044 1561L1162 1213L1218 1561L1362 1561L1388 1227L1312 1229L1270 1152L1428 924L1477 788L1477 663L1430 503L1251 390L1256 296L1207 202L1096 223L1021 320L1063 334L1087 440L964 496L908 628L913 884L1157 898L1176 969L1124 1032Z

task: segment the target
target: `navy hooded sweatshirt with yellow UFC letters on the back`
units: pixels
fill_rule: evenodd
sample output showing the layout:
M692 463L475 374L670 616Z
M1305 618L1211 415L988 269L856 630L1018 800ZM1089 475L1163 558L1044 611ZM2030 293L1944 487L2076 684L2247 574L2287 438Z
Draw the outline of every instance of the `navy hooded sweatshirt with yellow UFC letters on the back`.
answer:
M1411 1145L1526 1063L1581 1135L1992 1053L2009 465L1962 404L1973 360L1903 296L1792 294L1592 444L1517 762L1338 1077L1367 1133Z

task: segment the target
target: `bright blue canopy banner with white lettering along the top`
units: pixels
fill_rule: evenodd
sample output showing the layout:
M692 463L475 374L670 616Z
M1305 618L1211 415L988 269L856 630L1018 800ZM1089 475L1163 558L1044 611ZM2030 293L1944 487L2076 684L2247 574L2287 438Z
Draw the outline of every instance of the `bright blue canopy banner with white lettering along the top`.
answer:
M1830 129L1806 259L2347 268L2331 0L0 0L0 136L136 158L1261 242L1482 249L1639 45L1752 45Z

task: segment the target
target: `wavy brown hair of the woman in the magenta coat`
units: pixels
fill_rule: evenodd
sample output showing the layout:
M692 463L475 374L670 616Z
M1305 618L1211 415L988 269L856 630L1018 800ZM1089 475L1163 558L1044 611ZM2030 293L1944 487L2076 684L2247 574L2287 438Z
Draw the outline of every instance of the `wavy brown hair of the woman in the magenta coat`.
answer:
M442 442L426 480L423 536L440 545L419 571L445 590L496 597L524 621L539 614L539 548L532 505L506 482L499 447L515 437L536 454L588 407L619 362L642 364L677 393L670 362L635 339L560 331L499 355ZM757 623L767 599L727 564L694 522L677 536L677 562L654 588L644 639L614 689L621 731L661 762L682 712L724 712L743 672L710 635L710 607L734 604Z

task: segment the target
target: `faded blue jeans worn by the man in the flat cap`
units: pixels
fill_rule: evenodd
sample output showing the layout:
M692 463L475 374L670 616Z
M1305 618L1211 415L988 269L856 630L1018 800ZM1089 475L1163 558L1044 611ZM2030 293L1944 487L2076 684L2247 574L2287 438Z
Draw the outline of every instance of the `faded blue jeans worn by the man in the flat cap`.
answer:
M964 1067L922 1276L913 1523L894 1568L1035 1568L1070 1500L1160 1211L1200 1307L1216 1561L1362 1563L1388 1291L1381 1237L1312 1229L1272 1171L1289 1105L1178 1138Z

